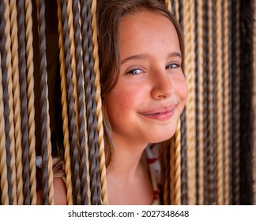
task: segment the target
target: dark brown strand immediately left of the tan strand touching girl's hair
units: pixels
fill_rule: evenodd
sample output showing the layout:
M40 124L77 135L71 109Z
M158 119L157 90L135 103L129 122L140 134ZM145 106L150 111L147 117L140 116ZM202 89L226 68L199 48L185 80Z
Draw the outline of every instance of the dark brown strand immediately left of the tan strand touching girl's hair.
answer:
M81 0L81 22L83 51L87 54L84 57L85 67L85 97L86 97L86 116L88 130L88 148L90 163L90 178L92 204L101 204L100 193L100 149L98 144L98 123L96 117L96 88L95 73L93 62L93 43L92 43L92 13L90 9L90 1ZM88 38L88 39L87 39Z

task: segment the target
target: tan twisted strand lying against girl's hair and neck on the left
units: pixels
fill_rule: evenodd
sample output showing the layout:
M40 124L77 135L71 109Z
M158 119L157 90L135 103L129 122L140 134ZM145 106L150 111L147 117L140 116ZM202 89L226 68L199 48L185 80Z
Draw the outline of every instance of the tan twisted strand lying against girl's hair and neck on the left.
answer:
M94 73L95 73L95 87L96 87L96 103L97 103L97 118L98 118L98 133L99 133L99 146L100 146L100 184L101 184L101 197L103 204L108 204L107 199L107 172L105 163L104 152L104 127L103 127L103 114L102 114L102 101L100 96L100 68L99 68L99 46L97 41L97 28L96 28L96 1L91 0L92 10L92 42L93 42L93 58L94 58Z

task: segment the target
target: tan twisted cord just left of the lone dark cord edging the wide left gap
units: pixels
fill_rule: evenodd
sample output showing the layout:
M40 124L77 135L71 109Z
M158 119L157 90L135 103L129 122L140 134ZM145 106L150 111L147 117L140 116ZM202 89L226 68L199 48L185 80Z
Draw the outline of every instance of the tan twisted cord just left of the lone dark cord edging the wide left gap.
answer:
M32 36L32 2L25 0L25 36L27 55L27 90L28 90L28 144L29 144L29 171L30 171L30 198L31 204L36 204L36 123L35 123L35 95L34 95L34 62Z

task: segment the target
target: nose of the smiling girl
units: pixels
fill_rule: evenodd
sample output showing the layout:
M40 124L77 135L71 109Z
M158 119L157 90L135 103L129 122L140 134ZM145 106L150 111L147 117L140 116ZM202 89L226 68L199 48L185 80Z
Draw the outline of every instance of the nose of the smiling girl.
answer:
M171 96L171 93L174 92L174 87L171 82L171 77L168 76L168 73L163 72L156 74L152 77L152 91L151 96L154 99L166 99Z

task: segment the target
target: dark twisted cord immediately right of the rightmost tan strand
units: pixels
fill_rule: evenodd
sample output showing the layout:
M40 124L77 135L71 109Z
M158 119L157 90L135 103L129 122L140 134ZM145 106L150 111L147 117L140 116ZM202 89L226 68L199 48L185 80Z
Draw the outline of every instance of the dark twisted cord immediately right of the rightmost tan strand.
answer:
M256 2L254 1L254 4ZM233 204L239 205L240 197L239 197L239 192L240 192L240 162L239 162L239 147L240 147L240 139L239 139L239 130L240 130L240 25L239 25L239 20L240 20L240 9L239 9L239 1L235 2L235 77L234 77L234 93L233 93L233 100L234 100L234 105L233 105L233 113L234 113L234 124L233 124ZM254 21L255 25L255 21ZM254 32L255 32L255 27L254 27ZM255 39L255 37L254 37ZM254 44L255 45L255 44ZM255 50L255 49L254 49Z

